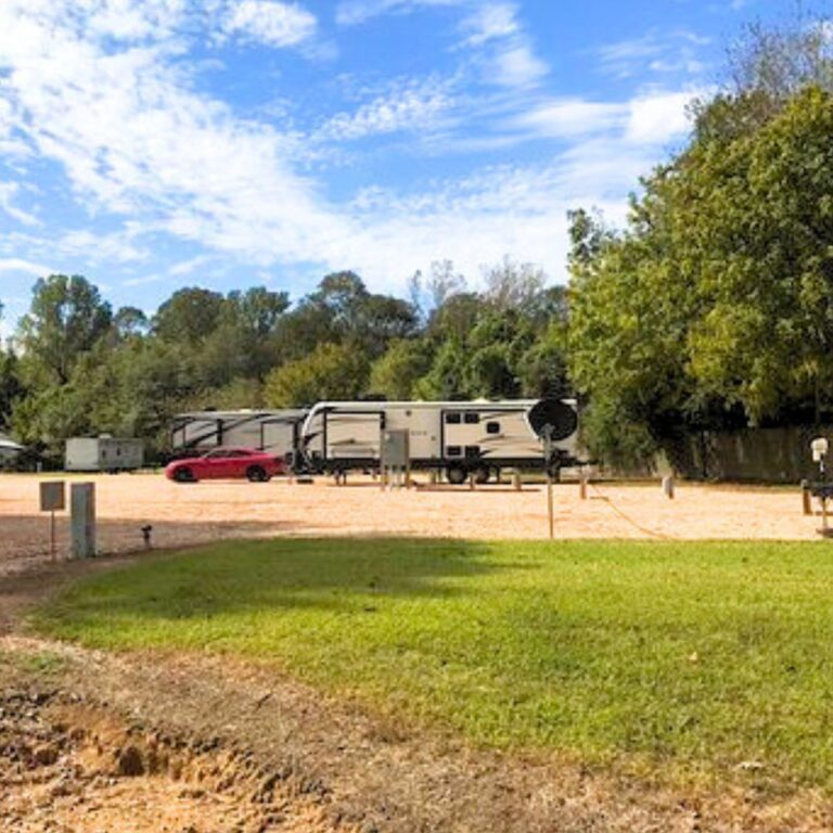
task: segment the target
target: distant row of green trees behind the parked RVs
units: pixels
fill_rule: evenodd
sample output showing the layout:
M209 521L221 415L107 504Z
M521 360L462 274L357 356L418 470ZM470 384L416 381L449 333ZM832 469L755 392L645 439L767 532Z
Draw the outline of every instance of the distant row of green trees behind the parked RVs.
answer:
M565 290L509 259L484 283L472 291L438 262L409 299L353 272L295 304L264 286L194 286L149 317L114 310L84 277L49 275L0 353L0 428L54 458L66 438L98 434L164 456L189 410L566 393Z

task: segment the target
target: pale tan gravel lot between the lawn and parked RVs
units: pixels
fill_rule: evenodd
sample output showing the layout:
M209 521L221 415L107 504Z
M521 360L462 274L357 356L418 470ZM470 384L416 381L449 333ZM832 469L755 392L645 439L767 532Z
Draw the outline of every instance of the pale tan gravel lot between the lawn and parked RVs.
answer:
M0 564L49 556L49 518L38 512L34 475L0 475ZM541 486L422 487L382 491L368 477L347 486L200 483L177 485L161 474L67 479L97 484L102 552L142 547L141 527L153 525L158 548L220 538L273 536L435 536L473 539L543 538L547 499ZM556 538L812 539L818 517L802 514L797 488L679 485L668 500L658 483L555 487ZM57 518L59 544L68 547L68 517ZM2 568L2 567L0 567Z

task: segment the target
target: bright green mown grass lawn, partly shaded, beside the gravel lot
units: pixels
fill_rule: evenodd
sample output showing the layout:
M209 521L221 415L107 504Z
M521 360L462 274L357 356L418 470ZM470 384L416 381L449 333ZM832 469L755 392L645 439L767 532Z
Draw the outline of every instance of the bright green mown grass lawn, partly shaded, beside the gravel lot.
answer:
M825 542L220 543L90 577L34 625L267 661L476 743L833 789Z

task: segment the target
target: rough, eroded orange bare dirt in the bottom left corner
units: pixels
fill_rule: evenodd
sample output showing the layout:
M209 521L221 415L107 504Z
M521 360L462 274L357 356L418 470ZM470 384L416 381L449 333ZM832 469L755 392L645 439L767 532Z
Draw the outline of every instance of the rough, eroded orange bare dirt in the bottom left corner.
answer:
M326 796L247 756L132 726L18 672L0 691L4 833L334 833Z

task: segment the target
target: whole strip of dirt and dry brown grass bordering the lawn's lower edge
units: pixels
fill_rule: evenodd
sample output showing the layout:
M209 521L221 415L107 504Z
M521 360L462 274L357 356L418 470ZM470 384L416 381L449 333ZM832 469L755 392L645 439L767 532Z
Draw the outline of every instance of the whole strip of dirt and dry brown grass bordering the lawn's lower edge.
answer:
M60 694L17 688L0 700L12 718L11 743L0 733L9 796L0 829L15 833L47 830L38 826L46 818L67 819L62 833L833 829L829 798L773 794L755 770L745 785L676 791L552 757L473 749L229 659L118 657L8 638L3 648L56 655L62 666ZM10 756L15 743L26 753ZM79 826L72 813L90 807L93 818L108 815Z

